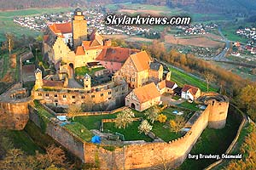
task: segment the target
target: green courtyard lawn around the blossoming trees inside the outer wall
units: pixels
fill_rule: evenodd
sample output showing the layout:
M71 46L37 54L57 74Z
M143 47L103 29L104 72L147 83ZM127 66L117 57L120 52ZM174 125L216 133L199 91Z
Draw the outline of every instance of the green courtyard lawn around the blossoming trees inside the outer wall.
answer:
M167 108L164 111L162 111L162 114L167 116L167 122L174 119L175 115L172 113L172 111L179 111L178 108ZM135 117L143 117L143 119L146 119L147 117L143 115L143 112L134 111ZM76 116L74 118L75 122L79 122L84 125L87 129L99 129L101 126L102 119L113 119L116 118L117 114L109 114L109 115L101 115L101 116ZM189 116L192 116L192 114L189 114L189 111L184 111L183 116L186 118L186 120L189 118ZM149 122L149 121L148 121ZM113 122L104 123L104 131L108 132L110 130L110 133L121 133L125 135L125 140L145 140L145 141L152 141L152 139L148 138L148 136L144 135L143 133L140 134L137 132L137 127L139 126L140 122L132 122L132 124L129 127L126 127L125 129L119 129L114 127ZM152 124L150 122L150 124ZM169 128L165 129L163 126L164 123L160 123L158 121L154 121L152 132L155 133L156 136L160 137L160 139L165 140L166 142L177 139L181 137L180 133L172 133Z

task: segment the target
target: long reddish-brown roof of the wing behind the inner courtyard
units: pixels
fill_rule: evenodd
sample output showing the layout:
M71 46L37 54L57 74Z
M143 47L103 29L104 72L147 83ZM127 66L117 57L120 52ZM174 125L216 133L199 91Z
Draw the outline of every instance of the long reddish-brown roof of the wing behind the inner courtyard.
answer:
M125 63L125 60L128 59L131 54L136 52L139 52L139 50L131 48L108 47L102 49L102 53L97 56L96 60Z

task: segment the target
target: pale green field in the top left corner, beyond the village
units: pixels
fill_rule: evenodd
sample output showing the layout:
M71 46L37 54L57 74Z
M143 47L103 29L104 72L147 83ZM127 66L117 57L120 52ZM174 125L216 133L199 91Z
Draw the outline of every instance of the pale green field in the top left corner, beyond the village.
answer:
M4 34L12 32L15 37L26 36L36 37L41 33L39 31L29 30L28 28L21 27L14 23L15 16L32 16L37 14L52 14L58 12L70 11L72 8L29 8L15 11L0 12L0 42L4 41Z

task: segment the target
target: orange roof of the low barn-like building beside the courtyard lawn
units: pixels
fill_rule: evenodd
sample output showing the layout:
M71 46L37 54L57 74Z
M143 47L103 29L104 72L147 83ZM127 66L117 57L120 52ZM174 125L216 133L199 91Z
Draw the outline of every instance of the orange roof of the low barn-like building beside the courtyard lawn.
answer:
M160 92L157 90L154 82L144 85L140 88L133 89L134 94L140 103L144 103L150 99L155 99L160 97Z

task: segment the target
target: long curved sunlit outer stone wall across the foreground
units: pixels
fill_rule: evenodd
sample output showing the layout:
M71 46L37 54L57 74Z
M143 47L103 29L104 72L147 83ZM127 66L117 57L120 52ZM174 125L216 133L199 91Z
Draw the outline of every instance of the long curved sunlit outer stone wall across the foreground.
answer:
M218 105L219 103L224 105ZM228 110L228 102L216 102L215 104L208 105L205 111L198 113L199 115L196 116L188 133L169 143L125 144L123 147L113 146L113 149L109 150L102 144L84 142L65 127L61 127L52 121L48 122L45 133L49 134L85 163L96 164L101 169L110 169L111 167L113 169L150 169L151 167L163 166L163 162L170 162L170 166L178 167L186 159L189 151L208 126L209 121L215 122L214 117L216 117L217 121L223 121L222 119L219 120L215 114L222 113L224 109ZM30 118L39 127L41 126L40 120L34 111L31 113Z

